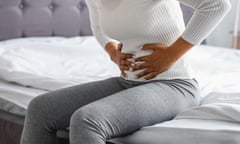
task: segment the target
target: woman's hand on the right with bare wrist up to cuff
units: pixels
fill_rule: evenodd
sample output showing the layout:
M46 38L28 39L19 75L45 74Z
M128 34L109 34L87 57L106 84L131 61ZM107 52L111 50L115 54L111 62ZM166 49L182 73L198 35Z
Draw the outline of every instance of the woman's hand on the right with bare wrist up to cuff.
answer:
M130 70L140 70L146 68L136 75L136 78L143 76L146 80L156 77L158 74L166 71L171 67L182 55L184 55L194 45L179 37L171 46L161 44L145 44L142 50L153 50L150 55L138 57L135 61L144 61L145 63L135 65Z

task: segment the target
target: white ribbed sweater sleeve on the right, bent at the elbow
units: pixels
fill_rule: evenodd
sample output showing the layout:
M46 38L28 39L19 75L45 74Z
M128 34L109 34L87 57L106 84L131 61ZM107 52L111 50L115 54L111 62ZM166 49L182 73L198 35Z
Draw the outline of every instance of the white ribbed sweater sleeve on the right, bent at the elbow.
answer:
M231 8L229 0L178 0L194 9L194 14L182 34L191 44L200 44L221 22Z

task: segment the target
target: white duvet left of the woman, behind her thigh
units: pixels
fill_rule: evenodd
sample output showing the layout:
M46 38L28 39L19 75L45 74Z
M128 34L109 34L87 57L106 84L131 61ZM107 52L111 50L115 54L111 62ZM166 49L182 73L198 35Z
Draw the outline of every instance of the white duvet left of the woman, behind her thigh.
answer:
M54 90L119 76L93 36L25 38L0 43L0 78Z

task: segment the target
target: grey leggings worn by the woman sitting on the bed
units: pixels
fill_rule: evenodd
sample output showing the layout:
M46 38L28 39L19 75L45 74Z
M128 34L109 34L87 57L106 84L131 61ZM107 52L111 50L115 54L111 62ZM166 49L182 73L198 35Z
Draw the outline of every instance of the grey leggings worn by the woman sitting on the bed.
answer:
M55 144L57 130L68 126L70 144L105 144L198 104L194 79L136 82L112 77L80 84L31 101L21 144Z

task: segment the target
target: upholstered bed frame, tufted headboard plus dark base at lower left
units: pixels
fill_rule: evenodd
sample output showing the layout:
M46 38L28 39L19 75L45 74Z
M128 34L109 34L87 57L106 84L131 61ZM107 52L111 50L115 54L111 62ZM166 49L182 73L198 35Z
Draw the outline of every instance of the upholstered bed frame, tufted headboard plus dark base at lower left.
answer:
M192 10L182 6L185 22ZM35 36L92 35L84 0L0 0L0 41ZM0 110L0 144L19 144L24 116ZM68 144L68 132L57 133Z

